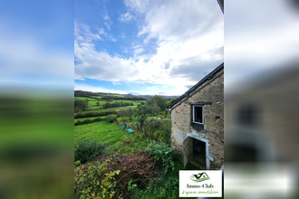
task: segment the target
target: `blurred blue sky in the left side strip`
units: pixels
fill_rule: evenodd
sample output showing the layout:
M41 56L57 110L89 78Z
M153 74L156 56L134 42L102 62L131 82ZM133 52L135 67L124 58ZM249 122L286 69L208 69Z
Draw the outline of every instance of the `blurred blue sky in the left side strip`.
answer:
M0 92L73 95L72 0L0 2Z

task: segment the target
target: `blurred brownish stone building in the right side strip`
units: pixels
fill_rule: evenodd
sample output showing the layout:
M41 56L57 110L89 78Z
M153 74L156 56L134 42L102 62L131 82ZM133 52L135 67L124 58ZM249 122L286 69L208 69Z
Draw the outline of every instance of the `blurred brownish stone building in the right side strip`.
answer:
M263 72L226 93L226 152L232 163L299 166L299 65Z

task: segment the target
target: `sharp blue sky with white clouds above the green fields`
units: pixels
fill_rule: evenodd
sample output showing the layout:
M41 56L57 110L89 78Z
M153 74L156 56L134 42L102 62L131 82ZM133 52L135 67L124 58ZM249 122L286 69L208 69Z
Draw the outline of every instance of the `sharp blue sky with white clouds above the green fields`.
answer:
M74 90L181 95L223 62L217 1L76 0Z

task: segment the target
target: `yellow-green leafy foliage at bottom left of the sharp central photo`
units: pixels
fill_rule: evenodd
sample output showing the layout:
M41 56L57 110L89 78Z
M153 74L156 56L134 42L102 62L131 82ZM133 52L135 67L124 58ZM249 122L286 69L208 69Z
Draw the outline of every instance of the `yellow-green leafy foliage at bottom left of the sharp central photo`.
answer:
M104 163L94 161L86 165L75 166L74 198L112 198L115 196L115 175L120 170L107 172L111 159Z

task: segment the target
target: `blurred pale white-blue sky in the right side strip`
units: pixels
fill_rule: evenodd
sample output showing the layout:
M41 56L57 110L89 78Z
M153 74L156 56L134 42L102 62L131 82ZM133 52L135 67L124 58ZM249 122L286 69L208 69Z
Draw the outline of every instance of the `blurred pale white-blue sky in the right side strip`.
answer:
M225 95L273 73L299 57L298 1L226 1Z

